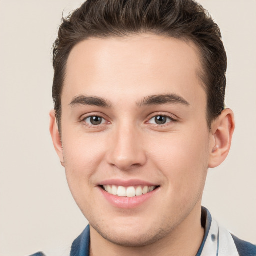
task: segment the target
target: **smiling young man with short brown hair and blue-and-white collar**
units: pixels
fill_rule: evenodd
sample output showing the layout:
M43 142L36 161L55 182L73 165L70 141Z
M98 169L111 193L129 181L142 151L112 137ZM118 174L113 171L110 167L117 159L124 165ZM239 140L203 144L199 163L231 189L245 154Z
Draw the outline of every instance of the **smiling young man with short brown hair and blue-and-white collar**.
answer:
M87 0L53 51L50 132L89 221L71 255L255 255L201 208L227 156L226 54L191 0Z

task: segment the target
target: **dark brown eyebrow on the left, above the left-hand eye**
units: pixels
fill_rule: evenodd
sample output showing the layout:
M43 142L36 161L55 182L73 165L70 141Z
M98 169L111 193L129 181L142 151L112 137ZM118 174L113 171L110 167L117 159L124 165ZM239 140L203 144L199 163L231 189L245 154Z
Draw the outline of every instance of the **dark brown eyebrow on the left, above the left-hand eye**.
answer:
M108 103L103 98L94 97L94 96L84 96L84 95L74 97L69 105L71 106L94 105L94 106L100 106L100 107L111 107L110 103Z

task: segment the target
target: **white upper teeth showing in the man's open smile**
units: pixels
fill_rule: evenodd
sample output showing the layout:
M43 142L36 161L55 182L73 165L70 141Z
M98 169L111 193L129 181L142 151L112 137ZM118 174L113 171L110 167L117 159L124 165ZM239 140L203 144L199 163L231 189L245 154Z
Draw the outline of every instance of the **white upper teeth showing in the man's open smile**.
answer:
M147 194L152 192L159 186L146 186L146 185L138 185L138 186L116 186L116 185L102 185L102 189L104 189L107 193L112 195L117 195L121 197L134 197L140 196L142 194Z

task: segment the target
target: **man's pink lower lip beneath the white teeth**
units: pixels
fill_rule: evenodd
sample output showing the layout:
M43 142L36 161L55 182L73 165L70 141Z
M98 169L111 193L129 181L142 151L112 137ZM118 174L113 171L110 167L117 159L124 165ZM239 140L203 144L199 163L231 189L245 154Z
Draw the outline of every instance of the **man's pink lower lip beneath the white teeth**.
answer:
M148 192L146 194L142 194L139 196L133 196L133 197L124 197L124 196L118 196L109 194L104 189L99 187L99 190L101 191L101 194L105 197L105 199L110 202L113 206L117 208L135 208L143 204L145 201L149 200L156 191L159 189L159 187L155 188L153 191Z

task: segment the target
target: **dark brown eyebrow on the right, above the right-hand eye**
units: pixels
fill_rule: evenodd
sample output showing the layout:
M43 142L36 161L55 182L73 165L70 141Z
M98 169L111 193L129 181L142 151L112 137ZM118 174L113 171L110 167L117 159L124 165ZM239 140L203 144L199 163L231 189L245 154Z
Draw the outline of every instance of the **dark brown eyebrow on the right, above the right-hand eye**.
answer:
M161 105L161 104L182 104L189 106L189 103L177 94L158 94L143 98L137 106Z

